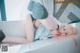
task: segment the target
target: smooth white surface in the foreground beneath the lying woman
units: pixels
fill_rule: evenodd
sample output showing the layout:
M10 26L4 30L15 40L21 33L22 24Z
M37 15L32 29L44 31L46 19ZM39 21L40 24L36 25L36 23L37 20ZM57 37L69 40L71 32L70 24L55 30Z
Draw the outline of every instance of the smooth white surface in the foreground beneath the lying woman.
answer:
M9 47L6 53L80 53L71 38L49 39Z

